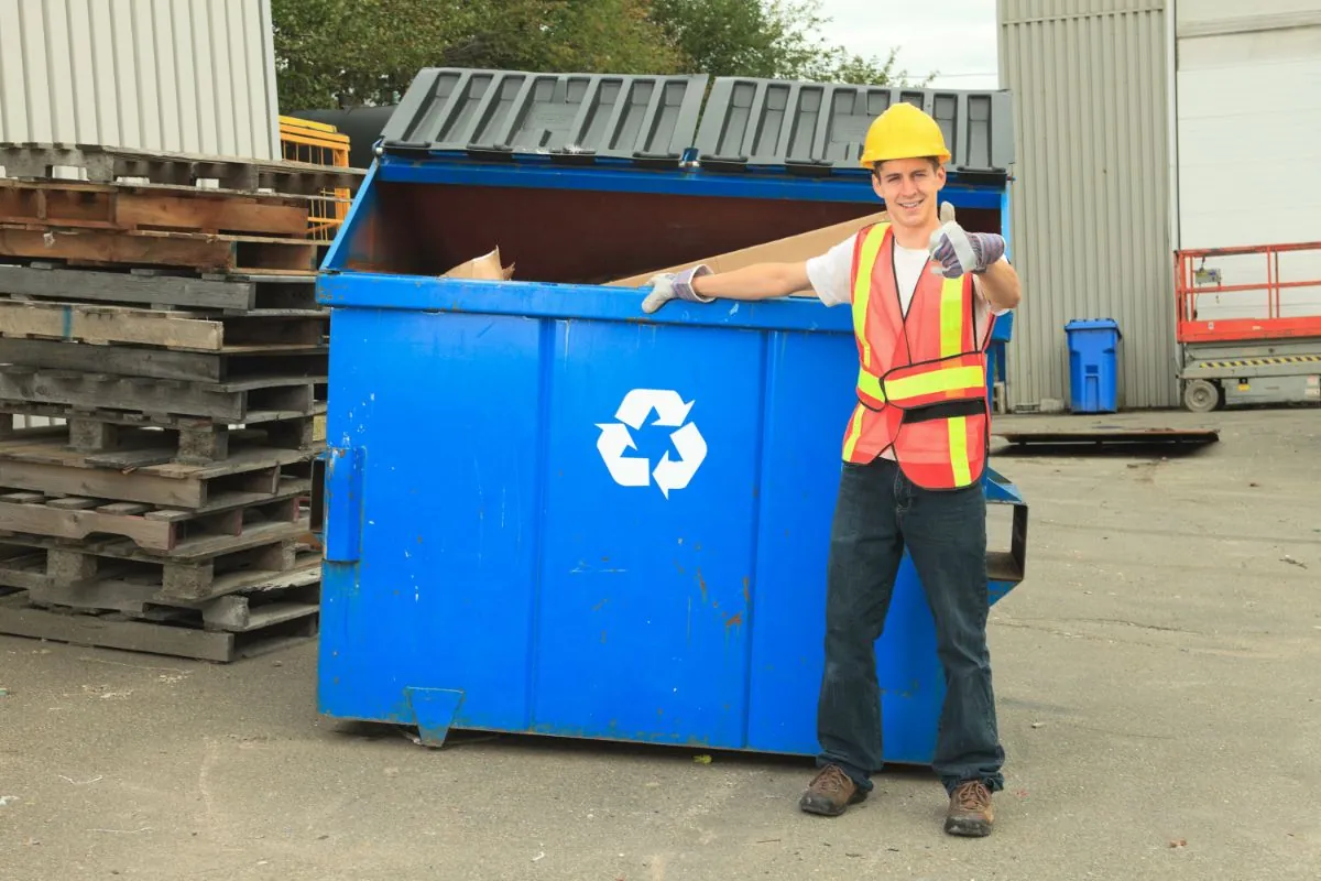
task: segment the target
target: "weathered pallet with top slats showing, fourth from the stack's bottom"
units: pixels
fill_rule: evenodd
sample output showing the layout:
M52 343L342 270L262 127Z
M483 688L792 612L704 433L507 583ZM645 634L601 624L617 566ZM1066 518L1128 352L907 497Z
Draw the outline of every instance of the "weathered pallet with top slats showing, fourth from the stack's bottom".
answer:
M168 552L196 539L243 535L267 523L296 523L309 493L309 481L285 477L273 497L225 493L202 509L173 509L0 489L0 532L71 540L123 536L144 551Z

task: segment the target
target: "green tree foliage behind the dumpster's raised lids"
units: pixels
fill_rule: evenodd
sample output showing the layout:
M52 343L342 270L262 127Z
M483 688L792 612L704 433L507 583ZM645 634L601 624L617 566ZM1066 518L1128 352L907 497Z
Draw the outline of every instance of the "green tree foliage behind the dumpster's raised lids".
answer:
M423 67L893 83L819 0L272 0L280 106L390 104Z

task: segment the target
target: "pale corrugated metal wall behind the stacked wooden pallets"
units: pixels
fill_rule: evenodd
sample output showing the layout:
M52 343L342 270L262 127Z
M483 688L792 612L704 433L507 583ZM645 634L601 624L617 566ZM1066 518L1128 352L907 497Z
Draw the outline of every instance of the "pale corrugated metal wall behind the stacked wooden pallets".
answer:
M269 0L0 0L0 140L280 155Z

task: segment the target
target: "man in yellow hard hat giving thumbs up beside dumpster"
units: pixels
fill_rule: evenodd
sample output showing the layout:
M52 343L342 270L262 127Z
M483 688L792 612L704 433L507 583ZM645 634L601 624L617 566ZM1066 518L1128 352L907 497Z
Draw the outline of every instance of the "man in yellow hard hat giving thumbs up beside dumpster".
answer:
M993 316L1015 308L1020 289L1001 236L966 232L952 218L942 225L937 197L948 160L935 120L896 104L872 123L861 157L888 223L806 263L657 276L642 308L808 287L826 305L852 304L859 403L844 431L831 527L819 770L799 807L838 816L867 798L881 769L875 642L906 547L947 683L933 761L950 798L945 831L983 836L992 793L1004 787L985 641L985 347Z

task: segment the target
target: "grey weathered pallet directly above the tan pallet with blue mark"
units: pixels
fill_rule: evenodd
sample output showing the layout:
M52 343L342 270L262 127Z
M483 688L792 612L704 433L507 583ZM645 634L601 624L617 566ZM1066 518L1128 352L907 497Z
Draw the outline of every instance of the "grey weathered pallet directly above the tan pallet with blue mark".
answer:
M184 271L178 271L184 272ZM316 276L172 275L162 269L67 269L48 262L0 264L0 295L69 302L148 305L227 313L318 310Z

